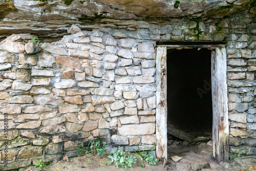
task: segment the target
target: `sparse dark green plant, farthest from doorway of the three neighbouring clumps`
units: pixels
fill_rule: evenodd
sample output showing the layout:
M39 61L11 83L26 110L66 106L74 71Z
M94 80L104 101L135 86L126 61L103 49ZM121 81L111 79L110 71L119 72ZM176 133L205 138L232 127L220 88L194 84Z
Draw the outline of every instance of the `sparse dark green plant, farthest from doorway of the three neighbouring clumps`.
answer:
M81 153L84 152L84 154L81 154L78 157L84 156L84 155L89 155L89 154L96 155L96 153L97 153L97 155L104 155L105 151L106 151L106 149L105 149L106 142L103 142L102 144L103 144L103 147L99 148L100 142L97 140L96 141L91 140L86 149L84 149L83 144L81 144L81 148L76 147L76 149L77 149L77 151L79 151Z

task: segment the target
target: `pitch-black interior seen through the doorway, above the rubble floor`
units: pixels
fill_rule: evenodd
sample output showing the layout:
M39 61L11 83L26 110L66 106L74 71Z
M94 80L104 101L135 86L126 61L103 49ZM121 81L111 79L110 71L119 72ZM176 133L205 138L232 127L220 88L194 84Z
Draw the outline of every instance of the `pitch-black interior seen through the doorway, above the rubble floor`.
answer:
M185 132L212 132L211 51L167 50L168 124Z

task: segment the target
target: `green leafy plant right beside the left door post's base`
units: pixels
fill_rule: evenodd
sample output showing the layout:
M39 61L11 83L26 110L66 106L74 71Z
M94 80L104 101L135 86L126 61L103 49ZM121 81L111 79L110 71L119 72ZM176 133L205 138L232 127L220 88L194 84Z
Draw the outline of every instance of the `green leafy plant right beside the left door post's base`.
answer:
M139 155L139 158L141 160L141 167L144 167L144 160L150 164L150 165L156 165L156 163L158 162L158 159L154 159L154 156L151 154L151 152L153 150L155 150L156 148L151 148L151 151L150 153L146 153L145 152L145 147L143 149L143 151L140 151L140 147L139 145L137 145L138 149L139 149L139 152L136 152L135 149L133 150L137 155Z

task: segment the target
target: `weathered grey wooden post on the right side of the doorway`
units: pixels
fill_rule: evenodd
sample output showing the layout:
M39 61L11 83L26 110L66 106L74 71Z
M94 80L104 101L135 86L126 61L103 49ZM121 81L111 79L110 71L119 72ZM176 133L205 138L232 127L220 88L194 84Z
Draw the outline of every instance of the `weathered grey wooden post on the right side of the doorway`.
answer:
M225 48L211 52L212 144L218 161L229 159L227 60Z

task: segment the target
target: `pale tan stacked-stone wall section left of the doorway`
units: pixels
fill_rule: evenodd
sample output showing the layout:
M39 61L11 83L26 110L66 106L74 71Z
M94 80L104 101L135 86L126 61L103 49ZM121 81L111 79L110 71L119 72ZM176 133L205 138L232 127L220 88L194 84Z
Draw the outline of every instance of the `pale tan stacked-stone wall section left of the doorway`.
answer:
M72 31L52 44L19 35L2 43L0 122L4 130L7 113L10 141L8 168L1 169L77 156L76 147L92 139L108 149L155 146L156 42ZM1 132L1 147L4 140Z

